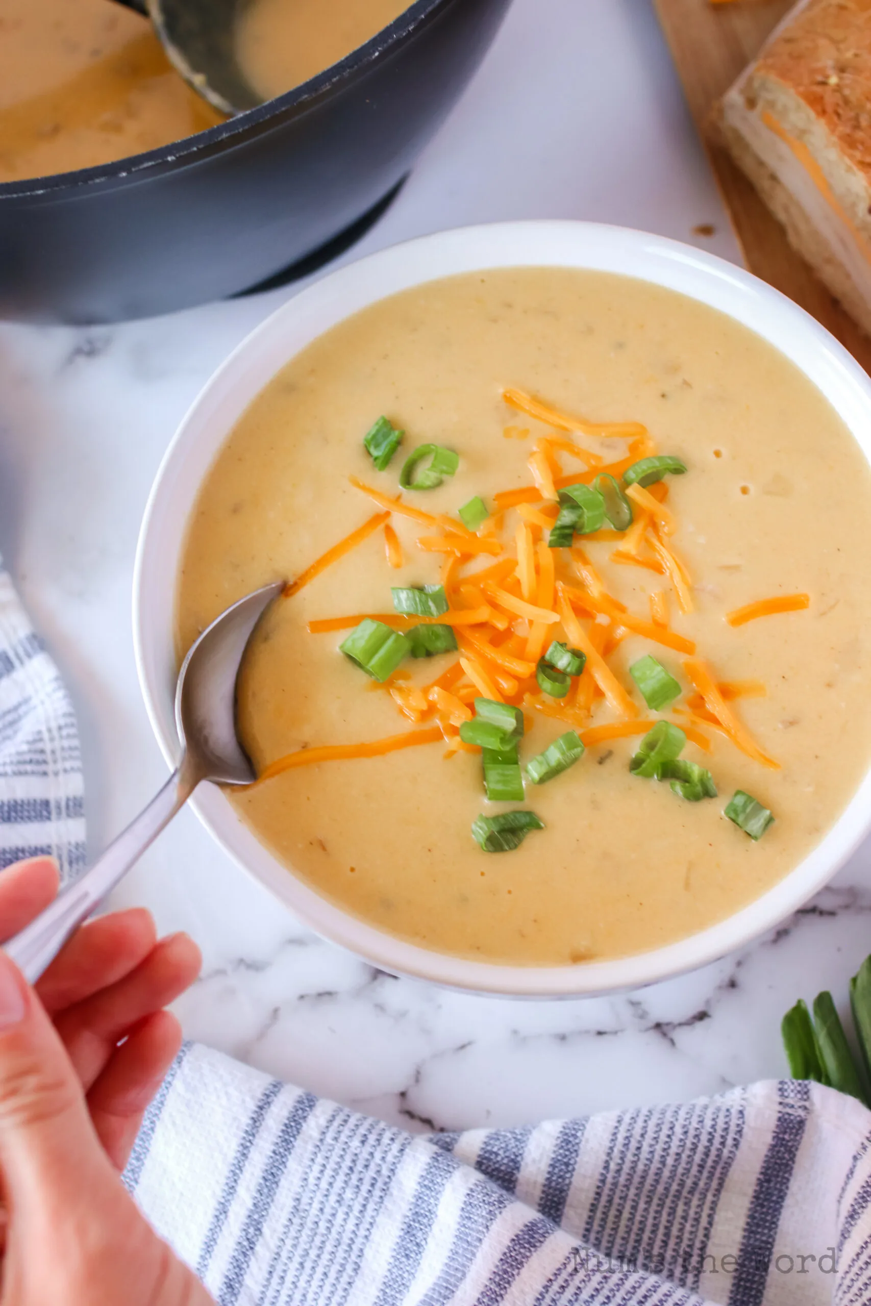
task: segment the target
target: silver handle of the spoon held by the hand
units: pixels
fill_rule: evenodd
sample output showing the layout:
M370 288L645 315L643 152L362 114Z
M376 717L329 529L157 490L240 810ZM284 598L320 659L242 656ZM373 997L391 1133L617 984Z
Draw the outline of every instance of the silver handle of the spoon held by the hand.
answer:
M73 930L127 875L163 827L168 825L196 789L197 781L198 777L192 777L183 761L145 811L112 840L103 855L30 925L3 944L4 952L12 957L29 983L37 982Z

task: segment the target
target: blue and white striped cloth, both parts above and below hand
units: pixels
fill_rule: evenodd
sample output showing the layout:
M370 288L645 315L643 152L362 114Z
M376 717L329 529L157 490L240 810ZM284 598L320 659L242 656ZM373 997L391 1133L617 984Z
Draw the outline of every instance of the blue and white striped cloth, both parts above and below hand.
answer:
M73 713L0 572L0 866L84 862ZM871 1111L753 1084L413 1138L185 1045L124 1182L221 1306L864 1306Z

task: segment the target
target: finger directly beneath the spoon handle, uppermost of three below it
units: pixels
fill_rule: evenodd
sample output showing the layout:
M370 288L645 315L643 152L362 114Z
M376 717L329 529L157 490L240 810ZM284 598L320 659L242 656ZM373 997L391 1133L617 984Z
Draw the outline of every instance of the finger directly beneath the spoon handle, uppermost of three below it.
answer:
M150 912L133 908L90 921L73 934L37 983L48 1012L61 1011L123 980L157 943Z

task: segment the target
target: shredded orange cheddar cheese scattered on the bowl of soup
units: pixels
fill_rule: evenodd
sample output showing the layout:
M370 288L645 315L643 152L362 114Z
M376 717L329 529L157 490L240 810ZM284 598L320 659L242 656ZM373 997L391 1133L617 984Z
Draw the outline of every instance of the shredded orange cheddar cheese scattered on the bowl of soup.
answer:
M665 482L626 488L633 508L628 530L605 526L575 537L571 547L548 546L547 535L559 513L560 488L592 485L599 473L620 478L632 462L654 454L657 447L646 428L635 422L598 423L576 418L522 390L508 389L503 397L511 407L550 427L550 434L538 436L528 458L534 485L492 495L488 502L494 511L473 532L452 516L426 512L406 503L401 495L383 494L351 477L351 485L380 511L326 550L285 592L287 596L298 593L380 528L387 563L394 569L404 567L406 556L390 522L393 513L435 532L418 538L417 546L424 554L441 555L437 575L448 602L444 614L363 613L315 618L307 623L312 635L347 629L367 616L396 631L427 623L452 627L458 657L430 683L418 683L419 677L414 678L404 667L385 682L368 686L384 691L384 697L417 729L368 743L299 750L266 767L260 780L295 767L377 757L440 739L445 743L445 757L461 751L477 752L460 739L458 729L473 718L473 700L479 696L515 707L522 704L539 717L565 722L577 730L588 747L645 734L656 718L641 713L632 696L635 686L624 671L627 663L619 654L614 657L622 643L633 636L684 656L683 670L689 688L683 705L671 712L691 744L709 752L713 730L748 757L777 767L730 707L736 699L764 696L764 683L716 680L708 663L696 656L695 641L673 628L671 599L679 614L692 613L693 601L689 572L673 543L679 518L666 507L669 486ZM508 436L509 431L516 438L530 434L520 427L505 427L503 434ZM628 441L627 454L605 462L599 453L569 439L576 434L623 438ZM560 457L581 466L573 474L564 471ZM610 554L594 554L594 563L588 550L606 543L612 546ZM490 560L492 558L496 560ZM619 568L616 577L609 573L606 559ZM623 568L635 568L636 577L628 577ZM648 588L650 581L642 575L645 572L658 577L657 588ZM614 593L615 579L635 581L635 593L640 592L641 599L649 603L649 616L627 609ZM727 613L726 622L740 627L756 618L798 611L808 605L807 594L776 596ZM551 640L565 640L586 658L564 697L542 692L537 680L538 662ZM598 718L599 712L605 713L605 721ZM614 720L607 720L609 714Z

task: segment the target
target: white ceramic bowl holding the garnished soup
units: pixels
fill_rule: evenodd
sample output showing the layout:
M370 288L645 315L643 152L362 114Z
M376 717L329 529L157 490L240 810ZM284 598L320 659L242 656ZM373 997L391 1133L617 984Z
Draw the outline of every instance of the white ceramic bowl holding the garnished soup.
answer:
M178 739L172 613L179 552L200 483L236 419L309 341L368 304L422 282L501 266L592 268L667 286L721 310L770 341L825 394L871 461L871 381L791 300L721 259L661 236L585 222L512 222L423 236L324 277L230 355L182 423L158 473L140 535L133 622L149 716L167 761ZM430 952L346 914L282 866L204 785L193 807L222 848L317 934L376 966L456 989L528 996L601 994L712 961L769 930L817 892L871 827L871 773L825 838L774 888L726 921L678 943L576 966L508 966Z

